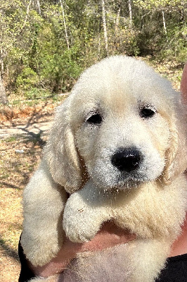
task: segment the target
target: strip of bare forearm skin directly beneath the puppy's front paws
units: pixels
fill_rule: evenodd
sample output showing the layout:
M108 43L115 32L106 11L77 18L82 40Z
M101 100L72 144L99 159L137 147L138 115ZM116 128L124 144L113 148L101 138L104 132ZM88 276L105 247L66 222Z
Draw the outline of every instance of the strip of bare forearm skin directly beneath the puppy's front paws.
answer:
M125 244L135 238L135 234L124 231L122 228L115 226L114 223L108 222L103 224L101 231L89 242L72 243L69 239L65 238L58 255L54 257L51 262L44 266L32 266L32 264L30 264L30 268L37 276L48 277L59 274L65 270L67 264L69 264L79 252L104 250L108 247Z

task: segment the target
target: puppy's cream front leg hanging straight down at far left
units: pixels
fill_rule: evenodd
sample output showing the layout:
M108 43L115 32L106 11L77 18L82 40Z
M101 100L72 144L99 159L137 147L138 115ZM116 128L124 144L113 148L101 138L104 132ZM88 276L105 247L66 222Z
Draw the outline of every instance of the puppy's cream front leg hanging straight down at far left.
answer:
M61 216L66 193L54 183L43 160L23 195L21 245L35 266L44 265L56 255L63 243Z

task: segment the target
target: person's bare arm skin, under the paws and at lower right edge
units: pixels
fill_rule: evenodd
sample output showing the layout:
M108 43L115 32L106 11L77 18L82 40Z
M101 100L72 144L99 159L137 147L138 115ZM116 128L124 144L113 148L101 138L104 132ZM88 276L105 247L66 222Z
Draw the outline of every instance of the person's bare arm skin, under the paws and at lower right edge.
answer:
M107 247L127 243L135 238L136 235L130 234L127 231L122 230L122 228L118 228L113 223L106 223L95 238L87 243L72 243L66 238L58 255L44 266L32 266L32 264L25 260L26 264L24 266L26 273L32 275L30 278L34 276L48 277L53 274L58 274L66 268L67 264L69 264L79 252L103 250ZM169 257L185 253L187 253L187 216L186 221L182 226L181 236L179 236L172 246ZM27 272L28 269L29 272ZM27 280L20 280L19 282L25 281Z

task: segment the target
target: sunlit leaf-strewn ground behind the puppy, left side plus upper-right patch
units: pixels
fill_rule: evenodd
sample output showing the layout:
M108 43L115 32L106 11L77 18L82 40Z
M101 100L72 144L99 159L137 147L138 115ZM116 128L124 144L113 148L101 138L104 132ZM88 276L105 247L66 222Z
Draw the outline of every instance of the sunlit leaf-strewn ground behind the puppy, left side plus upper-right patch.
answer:
M155 66L179 90L181 68L159 63ZM18 240L22 231L22 190L41 159L46 132L61 96L28 105L0 106L0 281L18 281Z

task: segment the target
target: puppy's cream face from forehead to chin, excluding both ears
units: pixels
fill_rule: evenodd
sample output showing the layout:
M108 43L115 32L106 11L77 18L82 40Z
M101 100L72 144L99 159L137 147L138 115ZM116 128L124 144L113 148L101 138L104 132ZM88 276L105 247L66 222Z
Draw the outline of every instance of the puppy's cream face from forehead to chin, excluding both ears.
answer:
M86 74L75 88L72 107L79 114L72 120L93 182L103 189L124 189L161 176L172 111L157 75L151 80L148 72L131 75L117 66Z

